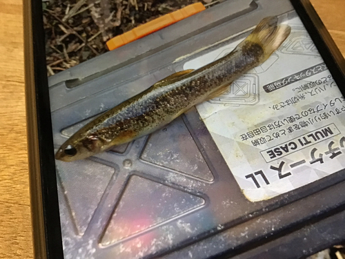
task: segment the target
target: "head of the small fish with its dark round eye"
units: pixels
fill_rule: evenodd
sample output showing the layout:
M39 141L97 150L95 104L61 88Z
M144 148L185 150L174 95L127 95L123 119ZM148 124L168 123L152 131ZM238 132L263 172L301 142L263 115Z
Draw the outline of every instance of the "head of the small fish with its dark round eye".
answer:
M55 159L63 162L82 160L91 155L102 152L104 149L103 140L95 136L72 136L63 143L55 153Z

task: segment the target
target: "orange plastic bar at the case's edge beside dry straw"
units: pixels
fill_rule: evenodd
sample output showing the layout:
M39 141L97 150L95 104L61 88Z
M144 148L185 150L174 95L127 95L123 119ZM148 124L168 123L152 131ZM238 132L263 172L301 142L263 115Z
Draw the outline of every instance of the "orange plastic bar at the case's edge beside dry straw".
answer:
M125 32L122 35L113 37L112 39L108 40L106 44L109 50L115 50L115 48L119 48L132 41L135 41L136 39L145 37L146 35L149 35L152 32L161 30L162 28L170 26L172 23L181 21L205 9L206 8L202 3L193 3L189 6L181 8L180 10L171 12L168 15L158 17L157 19L149 21L148 23L142 24L141 26L138 26L137 28L134 28L128 32Z

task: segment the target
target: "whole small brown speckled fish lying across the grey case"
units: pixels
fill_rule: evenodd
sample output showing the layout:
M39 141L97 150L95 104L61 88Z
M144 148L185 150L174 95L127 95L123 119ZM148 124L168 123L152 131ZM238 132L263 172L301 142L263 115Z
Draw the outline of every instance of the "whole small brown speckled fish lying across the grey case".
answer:
M148 135L189 108L224 93L248 70L262 64L290 34L290 27L266 17L232 52L197 70L172 74L115 106L72 135L55 158L81 160Z

